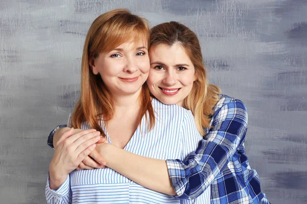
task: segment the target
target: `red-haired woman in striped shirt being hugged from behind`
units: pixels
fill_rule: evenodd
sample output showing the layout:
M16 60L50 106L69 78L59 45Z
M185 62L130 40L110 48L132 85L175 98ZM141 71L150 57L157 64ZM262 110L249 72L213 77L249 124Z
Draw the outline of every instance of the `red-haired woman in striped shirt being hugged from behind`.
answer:
M202 140L191 111L150 97L144 84L150 69L148 45L145 19L127 10L104 13L92 23L83 48L81 95L68 120L72 128L55 142L48 203L209 203L210 188L196 199L181 200L144 188L111 168L76 169L95 148L104 150L96 144L100 136L120 150L161 161L185 159ZM172 189L171 184L161 189Z

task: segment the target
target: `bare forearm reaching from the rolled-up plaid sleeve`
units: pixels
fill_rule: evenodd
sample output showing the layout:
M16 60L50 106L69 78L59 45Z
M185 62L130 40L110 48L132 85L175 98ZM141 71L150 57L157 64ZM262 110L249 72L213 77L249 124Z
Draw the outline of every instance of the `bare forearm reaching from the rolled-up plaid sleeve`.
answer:
M168 175L165 160L133 154L111 144L102 144L106 166L148 189L176 195Z

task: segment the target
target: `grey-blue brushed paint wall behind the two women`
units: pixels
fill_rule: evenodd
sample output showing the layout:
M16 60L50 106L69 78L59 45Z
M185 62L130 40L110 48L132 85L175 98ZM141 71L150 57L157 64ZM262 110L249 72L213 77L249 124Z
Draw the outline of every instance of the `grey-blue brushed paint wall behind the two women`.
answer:
M115 8L198 34L211 83L248 108L262 190L272 203L306 203L305 0L1 0L0 203L46 203L48 134L78 98L87 30Z

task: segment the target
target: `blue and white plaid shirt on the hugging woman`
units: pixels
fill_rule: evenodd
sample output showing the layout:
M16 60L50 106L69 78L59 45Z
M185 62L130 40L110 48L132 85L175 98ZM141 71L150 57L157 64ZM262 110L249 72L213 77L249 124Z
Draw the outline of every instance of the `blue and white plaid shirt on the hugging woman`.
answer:
M54 133L65 126L58 125L50 133L50 147L54 148ZM177 197L193 199L210 186L212 204L270 203L261 193L259 176L245 155L247 111L242 101L221 95L211 126L185 161L166 161Z

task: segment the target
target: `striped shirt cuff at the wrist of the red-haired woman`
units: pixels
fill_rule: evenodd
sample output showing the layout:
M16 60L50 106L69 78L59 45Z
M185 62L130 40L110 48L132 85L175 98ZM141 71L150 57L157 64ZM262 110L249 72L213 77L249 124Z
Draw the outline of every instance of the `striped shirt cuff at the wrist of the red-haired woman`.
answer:
M49 175L47 178L47 185L45 189L47 203L52 204L70 204L72 203L72 191L70 188L70 177L55 191L49 187Z

